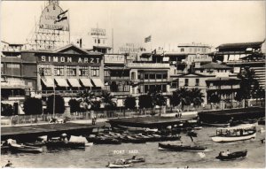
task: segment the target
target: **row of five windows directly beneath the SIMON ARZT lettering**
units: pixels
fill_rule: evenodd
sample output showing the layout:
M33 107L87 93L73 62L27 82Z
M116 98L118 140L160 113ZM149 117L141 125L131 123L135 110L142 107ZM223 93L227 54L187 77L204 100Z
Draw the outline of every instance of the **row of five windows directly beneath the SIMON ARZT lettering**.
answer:
M66 66L66 75L67 76L75 76L77 74L79 76L88 76L89 75L89 67L88 66L80 66L77 70L76 66ZM39 70L41 76L51 76L51 66L50 65L42 65ZM91 76L98 77L99 76L99 67L91 66L90 68ZM54 75L55 76L64 76L65 75L65 66L64 65L56 65L54 66Z

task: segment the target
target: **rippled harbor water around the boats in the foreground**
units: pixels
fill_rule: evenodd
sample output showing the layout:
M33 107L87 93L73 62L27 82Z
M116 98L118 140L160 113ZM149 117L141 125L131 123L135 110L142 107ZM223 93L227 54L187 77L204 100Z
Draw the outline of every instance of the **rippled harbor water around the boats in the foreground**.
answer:
M264 126L257 126L257 130ZM261 139L265 133L257 132L253 140L219 143L211 140L215 134L215 127L203 127L196 130L198 137L194 142L207 147L205 157L198 152L176 152L158 150L158 142L122 143L120 145L93 145L85 150L47 150L39 154L1 152L1 166L8 160L14 167L35 168L103 168L108 161L119 158L129 158L133 155L145 157L145 163L134 164L136 168L265 168L265 143ZM185 134L181 134L182 141L192 144ZM233 161L219 161L215 159L220 151L248 150L247 157Z

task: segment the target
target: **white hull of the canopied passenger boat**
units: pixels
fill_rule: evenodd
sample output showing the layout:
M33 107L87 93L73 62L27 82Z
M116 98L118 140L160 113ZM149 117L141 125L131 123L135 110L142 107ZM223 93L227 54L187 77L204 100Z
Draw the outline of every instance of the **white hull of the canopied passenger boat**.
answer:
M214 136L212 137L212 140L214 142L237 142L237 141L250 140L255 137L256 137L256 133L243 135L243 136Z

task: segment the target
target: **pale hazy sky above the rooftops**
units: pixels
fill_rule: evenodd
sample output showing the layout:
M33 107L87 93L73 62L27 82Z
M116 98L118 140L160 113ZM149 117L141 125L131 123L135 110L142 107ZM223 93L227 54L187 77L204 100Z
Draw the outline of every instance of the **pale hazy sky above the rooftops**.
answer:
M254 42L265 38L265 1L60 1L69 10L71 35L106 28L114 48L126 42L168 47L202 42L217 46L225 42ZM1 3L1 39L26 42L44 7L43 1Z

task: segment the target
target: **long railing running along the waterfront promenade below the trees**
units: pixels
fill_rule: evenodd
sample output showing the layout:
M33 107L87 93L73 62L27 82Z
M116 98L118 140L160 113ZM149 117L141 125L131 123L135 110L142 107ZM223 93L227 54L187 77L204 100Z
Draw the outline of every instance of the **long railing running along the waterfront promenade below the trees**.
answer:
M164 108L153 108L153 109L135 109L135 110L115 110L115 111L85 111L85 112L73 112L55 114L55 118L67 119L71 121L75 120L90 120L92 118L97 119L109 119L109 118L127 118L137 117L151 114L164 114L164 113L177 113L177 112L188 112L188 111L209 111L209 110L222 110L232 108L243 108L245 105L243 102L233 103L218 103L218 104L206 104L203 106L192 106L184 105L184 109L181 111L181 106L176 107L164 107ZM265 106L265 103L260 100L251 100L248 106ZM38 115L15 115L15 116L2 116L1 126L18 126L18 125L30 125L30 124L47 124L50 122L52 114L38 114ZM91 122L91 121L90 121Z

